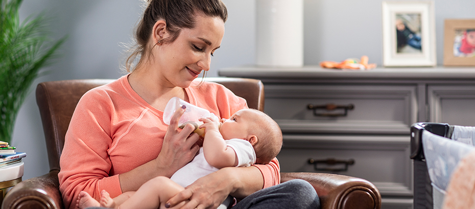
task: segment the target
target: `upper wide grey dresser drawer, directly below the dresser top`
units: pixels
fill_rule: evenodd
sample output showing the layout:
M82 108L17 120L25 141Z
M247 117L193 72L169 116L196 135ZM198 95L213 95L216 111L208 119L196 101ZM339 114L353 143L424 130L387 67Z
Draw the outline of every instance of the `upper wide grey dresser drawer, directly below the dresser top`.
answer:
M417 122L416 92L413 85L266 85L265 111L287 133L407 134Z

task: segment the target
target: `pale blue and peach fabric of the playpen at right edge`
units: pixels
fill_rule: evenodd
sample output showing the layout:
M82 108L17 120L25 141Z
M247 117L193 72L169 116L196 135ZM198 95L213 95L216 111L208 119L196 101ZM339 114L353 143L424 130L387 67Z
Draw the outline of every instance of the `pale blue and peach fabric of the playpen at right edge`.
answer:
M422 133L434 208L472 208L475 202L474 127L453 126L452 140Z

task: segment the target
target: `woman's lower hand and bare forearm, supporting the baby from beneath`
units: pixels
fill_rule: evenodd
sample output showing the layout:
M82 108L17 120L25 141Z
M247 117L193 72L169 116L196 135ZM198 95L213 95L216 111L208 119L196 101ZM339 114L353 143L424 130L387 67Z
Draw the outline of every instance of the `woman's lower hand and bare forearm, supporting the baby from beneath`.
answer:
M229 194L242 199L262 189L263 183L262 173L256 167L227 167L188 185L185 190L168 200L165 207L173 207L189 199L181 209L217 208Z

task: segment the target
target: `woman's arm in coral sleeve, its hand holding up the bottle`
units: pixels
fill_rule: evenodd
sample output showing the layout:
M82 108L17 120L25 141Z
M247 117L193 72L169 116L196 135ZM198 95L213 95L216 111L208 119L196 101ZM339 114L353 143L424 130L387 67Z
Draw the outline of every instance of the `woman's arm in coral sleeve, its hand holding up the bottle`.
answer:
M104 98L107 97L97 92L86 93L75 110L70 130L66 134L58 177L64 204L71 205L71 208L75 207L80 191L86 191L99 199L100 191L106 190L111 197L115 197L122 192L136 191L141 184L155 176L171 176L193 159L199 149L195 145L199 138L197 134L189 135L194 127L185 127L180 131L176 125L172 125L166 133L163 130L164 140L160 146L160 154L145 156L147 159L140 162L140 166L135 165L137 161L135 164L123 162L120 166L113 164L109 155L114 134L111 118L116 118L117 115L111 116L114 114L111 110L113 104ZM175 118L179 118L180 113L182 112L177 113ZM145 142L150 141L161 143L162 139L151 138ZM113 175L111 171L114 167L126 169L128 172Z

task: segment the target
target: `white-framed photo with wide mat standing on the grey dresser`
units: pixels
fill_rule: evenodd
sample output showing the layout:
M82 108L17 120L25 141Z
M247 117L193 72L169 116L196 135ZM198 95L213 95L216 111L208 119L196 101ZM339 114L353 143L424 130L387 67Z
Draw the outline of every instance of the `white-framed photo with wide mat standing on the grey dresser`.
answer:
M433 2L383 2L383 65L435 66Z

